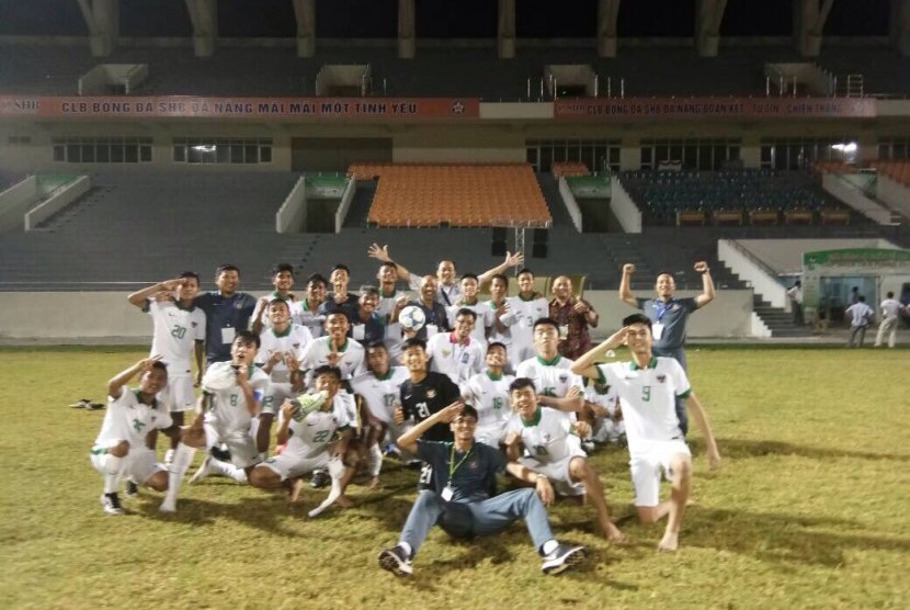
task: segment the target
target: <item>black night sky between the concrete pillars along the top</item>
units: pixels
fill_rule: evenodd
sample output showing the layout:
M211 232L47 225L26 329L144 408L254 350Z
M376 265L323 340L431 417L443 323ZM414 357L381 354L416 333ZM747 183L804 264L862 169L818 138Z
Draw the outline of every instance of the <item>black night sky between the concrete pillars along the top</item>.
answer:
M728 0L721 36L788 36L793 0ZM121 0L122 36L190 36L184 0ZM317 36L394 38L397 0L317 0ZM520 38L591 38L596 0L516 0ZM493 38L496 0L416 0L421 38ZM695 0L624 0L621 37L694 32ZM834 0L826 35L887 36L889 0ZM293 37L291 0L218 0L224 37ZM76 0L0 0L0 35L86 36Z

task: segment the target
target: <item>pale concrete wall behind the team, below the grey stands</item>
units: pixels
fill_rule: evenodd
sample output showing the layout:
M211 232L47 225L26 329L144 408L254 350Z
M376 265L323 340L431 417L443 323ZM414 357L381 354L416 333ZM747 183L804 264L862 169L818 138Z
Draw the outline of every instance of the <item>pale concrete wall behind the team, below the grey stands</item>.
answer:
M679 296L696 294L697 291L683 291ZM625 316L635 313L617 298L615 291L585 291L584 297L600 314L600 327L594 329L599 340L608 337ZM751 316L752 291L721 291L706 312L692 315L689 336L748 337ZM125 292L0 292L0 341L149 343L151 317L129 305Z

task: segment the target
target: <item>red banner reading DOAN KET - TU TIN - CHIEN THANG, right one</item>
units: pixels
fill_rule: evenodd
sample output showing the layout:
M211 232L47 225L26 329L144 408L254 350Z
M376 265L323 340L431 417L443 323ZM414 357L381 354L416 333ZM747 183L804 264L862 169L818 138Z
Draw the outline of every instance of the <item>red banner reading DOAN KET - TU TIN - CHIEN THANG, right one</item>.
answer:
M875 116L866 98L590 98L557 100L556 118L850 118Z

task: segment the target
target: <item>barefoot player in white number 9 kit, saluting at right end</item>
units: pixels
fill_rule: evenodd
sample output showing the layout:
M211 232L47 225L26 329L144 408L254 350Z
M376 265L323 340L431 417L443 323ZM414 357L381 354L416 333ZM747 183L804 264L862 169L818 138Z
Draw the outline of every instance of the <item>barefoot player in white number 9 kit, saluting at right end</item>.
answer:
M705 437L712 468L720 464L720 455L708 417L692 392L682 365L673 358L656 358L651 353L652 340L651 320L634 314L623 320L623 328L579 358L571 370L614 387L619 395L638 519L653 523L669 516L658 551L675 551L692 485L692 453L680 430L676 397L685 400ZM632 351L632 361L595 364L600 354L623 343ZM663 502L660 501L661 471L672 483L670 500Z

